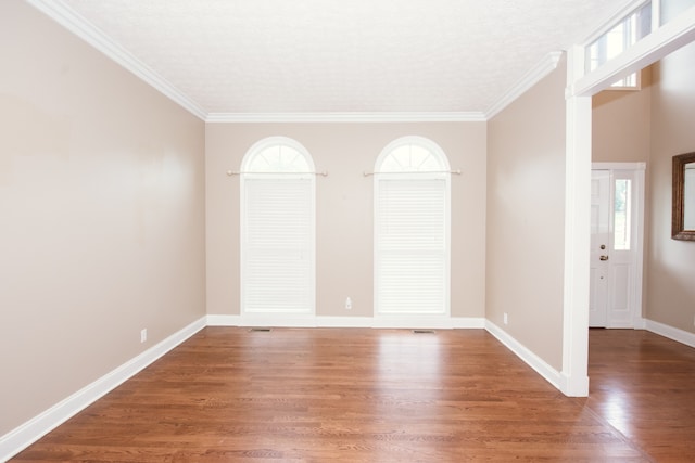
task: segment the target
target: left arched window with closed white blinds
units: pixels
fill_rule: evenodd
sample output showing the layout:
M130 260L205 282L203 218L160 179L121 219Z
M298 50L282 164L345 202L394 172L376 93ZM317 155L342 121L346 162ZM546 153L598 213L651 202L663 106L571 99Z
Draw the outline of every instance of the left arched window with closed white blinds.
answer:
M315 176L294 140L254 144L241 164L241 314L314 314Z

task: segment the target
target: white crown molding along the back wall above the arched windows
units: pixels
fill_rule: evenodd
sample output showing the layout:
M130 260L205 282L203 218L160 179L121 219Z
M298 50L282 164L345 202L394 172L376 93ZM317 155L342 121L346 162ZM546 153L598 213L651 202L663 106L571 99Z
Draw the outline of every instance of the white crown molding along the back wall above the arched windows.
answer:
M206 123L484 123L470 113L210 113Z

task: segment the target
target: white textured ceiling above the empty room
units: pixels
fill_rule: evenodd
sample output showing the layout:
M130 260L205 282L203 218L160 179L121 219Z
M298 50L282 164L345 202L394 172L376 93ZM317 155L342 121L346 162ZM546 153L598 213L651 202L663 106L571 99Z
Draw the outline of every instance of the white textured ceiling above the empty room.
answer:
M485 113L624 0L55 0L206 113Z

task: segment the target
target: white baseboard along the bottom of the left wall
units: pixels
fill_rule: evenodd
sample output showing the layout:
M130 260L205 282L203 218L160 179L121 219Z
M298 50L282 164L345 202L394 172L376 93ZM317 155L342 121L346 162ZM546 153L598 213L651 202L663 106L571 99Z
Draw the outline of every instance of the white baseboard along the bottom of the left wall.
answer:
M16 455L204 327L205 317L0 437L0 461Z

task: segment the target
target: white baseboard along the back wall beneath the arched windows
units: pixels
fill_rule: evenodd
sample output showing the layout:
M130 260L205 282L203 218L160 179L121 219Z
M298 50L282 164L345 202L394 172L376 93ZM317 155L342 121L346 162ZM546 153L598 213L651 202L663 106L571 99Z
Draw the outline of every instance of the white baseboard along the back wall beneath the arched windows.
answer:
M207 316L208 326L484 329L483 318L462 317L241 317Z

